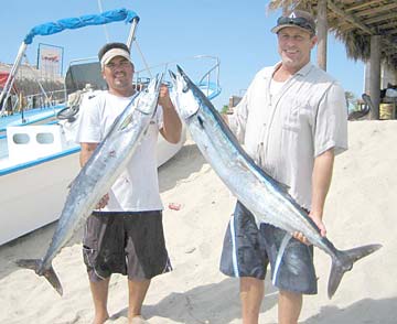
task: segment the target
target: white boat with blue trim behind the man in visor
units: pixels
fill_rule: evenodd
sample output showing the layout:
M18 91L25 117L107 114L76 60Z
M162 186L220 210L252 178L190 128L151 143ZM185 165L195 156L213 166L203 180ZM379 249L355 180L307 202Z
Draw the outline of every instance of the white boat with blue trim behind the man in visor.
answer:
M126 44L131 47L139 17L130 10L117 9L100 14L62 19L34 26L25 36L18 52L10 76L0 95L0 102L13 87L18 65L29 44L36 35L49 35L65 29L127 21L130 24ZM208 98L221 93L218 84L219 62L216 57L197 55L193 60L208 60L214 65L208 68L197 85ZM179 61L178 61L179 62ZM155 68L164 72L172 62L162 63L136 72L135 86L144 88ZM78 75L88 79L78 78ZM71 62L65 76L65 102L6 116L0 107L0 183L1 223L0 245L26 235L50 223L56 222L68 194L68 185L78 174L79 145L75 143L74 131L78 125L79 106L93 93L104 89L95 80L100 77L97 58ZM213 79L215 79L213 82ZM158 141L158 166L161 166L183 145L186 138L183 127L179 143L167 142L161 136Z

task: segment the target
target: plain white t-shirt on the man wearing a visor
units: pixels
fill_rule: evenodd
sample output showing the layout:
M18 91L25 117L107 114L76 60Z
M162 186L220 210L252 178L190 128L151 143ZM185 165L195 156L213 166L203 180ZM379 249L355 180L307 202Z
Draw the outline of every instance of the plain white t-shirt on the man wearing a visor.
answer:
M117 97L108 91L85 101L76 134L79 143L99 143L115 119L132 97ZM162 128L162 109L159 106L149 129L127 169L109 191L109 203L103 212L144 212L163 209L159 193L157 142Z

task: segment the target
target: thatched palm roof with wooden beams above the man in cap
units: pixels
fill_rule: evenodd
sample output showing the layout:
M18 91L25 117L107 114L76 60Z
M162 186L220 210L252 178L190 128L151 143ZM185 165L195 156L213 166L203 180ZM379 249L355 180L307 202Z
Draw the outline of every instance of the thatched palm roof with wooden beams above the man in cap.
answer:
M269 9L305 9L316 15L318 0L272 0ZM346 45L347 56L369 60L371 36L382 36L382 61L397 66L396 0L328 0L329 29Z

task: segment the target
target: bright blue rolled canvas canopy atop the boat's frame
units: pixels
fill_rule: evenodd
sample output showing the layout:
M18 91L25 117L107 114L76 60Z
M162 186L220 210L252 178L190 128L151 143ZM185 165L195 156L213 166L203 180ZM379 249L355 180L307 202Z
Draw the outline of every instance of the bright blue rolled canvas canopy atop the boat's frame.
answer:
M84 28L86 25L106 24L121 20L126 21L126 23L131 23L135 18L137 18L139 21L137 13L124 8L105 11L100 14L86 14L77 18L65 18L55 22L47 22L32 28L23 42L28 45L33 42L33 37L35 35L52 35L60 33L63 30L74 30Z

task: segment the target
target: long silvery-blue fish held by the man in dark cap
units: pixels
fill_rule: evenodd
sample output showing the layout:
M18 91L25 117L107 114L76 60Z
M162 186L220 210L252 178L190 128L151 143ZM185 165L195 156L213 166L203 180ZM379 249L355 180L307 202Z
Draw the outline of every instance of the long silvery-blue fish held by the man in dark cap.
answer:
M285 229L287 235L300 231L331 257L328 283L331 299L353 263L382 246L336 249L326 237L320 235L318 226L289 195L286 185L268 175L244 151L219 112L182 68L178 66L176 75L170 74L174 106L192 139L229 191L254 214L256 223L273 225Z

